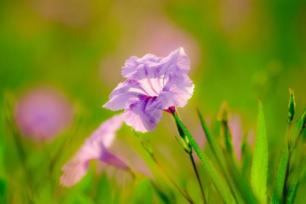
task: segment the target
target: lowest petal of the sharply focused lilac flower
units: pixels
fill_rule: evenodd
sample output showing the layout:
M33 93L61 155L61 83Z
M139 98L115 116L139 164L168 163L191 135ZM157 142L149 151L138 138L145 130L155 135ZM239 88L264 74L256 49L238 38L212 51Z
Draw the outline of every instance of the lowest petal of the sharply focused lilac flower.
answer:
M123 113L124 122L132 126L135 131L142 133L154 131L162 119L159 98L143 97L136 104L126 108Z

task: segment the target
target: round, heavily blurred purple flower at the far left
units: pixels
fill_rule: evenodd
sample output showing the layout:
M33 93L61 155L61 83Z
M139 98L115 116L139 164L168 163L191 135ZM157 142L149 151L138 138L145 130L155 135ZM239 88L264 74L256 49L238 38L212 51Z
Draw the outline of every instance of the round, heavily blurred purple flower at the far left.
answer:
M14 117L23 136L52 139L69 127L73 111L63 93L53 88L39 87L17 101Z

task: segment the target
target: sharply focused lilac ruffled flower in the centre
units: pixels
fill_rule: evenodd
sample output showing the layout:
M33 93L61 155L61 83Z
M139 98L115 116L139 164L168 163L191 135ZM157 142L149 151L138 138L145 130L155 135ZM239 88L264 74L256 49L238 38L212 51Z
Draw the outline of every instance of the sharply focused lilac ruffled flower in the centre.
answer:
M135 131L154 131L162 119L162 110L184 107L191 98L194 84L187 75L189 69L183 48L166 58L151 54L131 57L121 72L127 79L113 90L103 107L112 111L125 109L123 120Z

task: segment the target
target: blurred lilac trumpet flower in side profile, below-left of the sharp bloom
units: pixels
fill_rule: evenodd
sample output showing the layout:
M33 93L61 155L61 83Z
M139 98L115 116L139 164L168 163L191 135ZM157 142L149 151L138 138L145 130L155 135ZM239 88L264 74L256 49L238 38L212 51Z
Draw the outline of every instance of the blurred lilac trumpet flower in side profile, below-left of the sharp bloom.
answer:
M99 160L122 170L130 169L124 161L108 150L122 123L122 114L115 115L103 122L86 139L78 152L62 167L64 173L61 176L61 185L71 187L78 183L87 173L90 160Z

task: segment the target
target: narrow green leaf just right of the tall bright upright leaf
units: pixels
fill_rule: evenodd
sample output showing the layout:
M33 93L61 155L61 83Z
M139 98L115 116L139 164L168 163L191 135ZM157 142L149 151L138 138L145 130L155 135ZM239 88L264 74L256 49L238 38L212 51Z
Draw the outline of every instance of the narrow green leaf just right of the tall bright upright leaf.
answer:
M286 179L286 170L288 165L288 143L285 143L284 150L282 152L281 161L279 161L276 175L275 184L271 196L271 203L282 203L283 202L283 191Z

